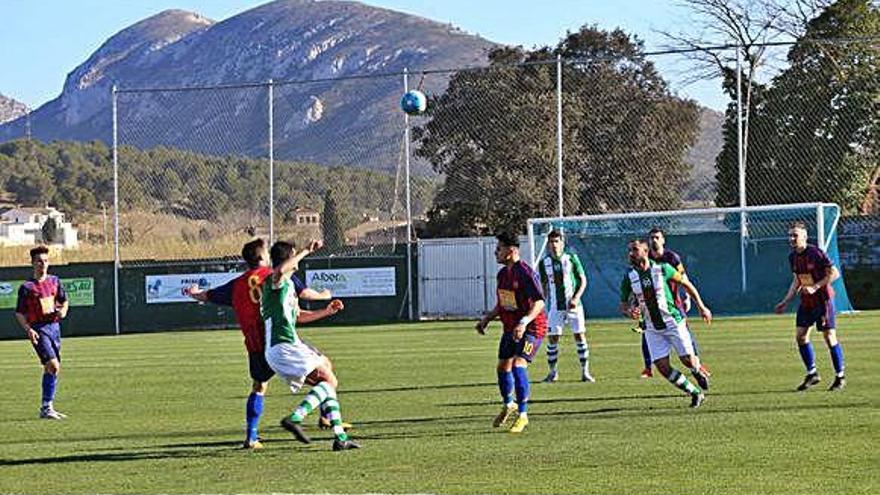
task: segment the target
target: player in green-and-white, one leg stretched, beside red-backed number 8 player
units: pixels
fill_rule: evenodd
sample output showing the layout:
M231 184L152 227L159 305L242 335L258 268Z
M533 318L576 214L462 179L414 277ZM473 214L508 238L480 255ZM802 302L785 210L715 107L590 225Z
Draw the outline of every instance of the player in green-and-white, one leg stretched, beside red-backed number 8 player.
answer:
M360 448L360 445L348 438L342 426L339 402L336 399L338 381L333 373L330 360L305 343L296 332L297 315L302 313L296 297L296 288L291 282L291 275L298 268L299 256L293 244L279 241L269 251L272 259L272 274L266 279L261 299L261 313L266 326L266 362L278 377L287 382L293 393L299 391L306 383L312 389L305 399L291 413L281 420L281 426L293 433L297 440L310 443L308 435L302 429L306 415L316 407L323 407L330 413L333 425L333 450L349 450ZM331 304L331 311L338 309ZM305 323L317 319L313 313L310 318L299 319Z

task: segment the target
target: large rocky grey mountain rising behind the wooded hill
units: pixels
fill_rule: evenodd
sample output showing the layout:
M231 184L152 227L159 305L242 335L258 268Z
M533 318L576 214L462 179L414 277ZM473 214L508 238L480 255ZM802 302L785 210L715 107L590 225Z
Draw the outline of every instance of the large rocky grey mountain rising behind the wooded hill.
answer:
M211 91L137 88L304 81L482 63L495 44L448 24L356 2L277 0L222 22L168 10L108 39L71 72L61 95L31 114L42 140L111 142L111 88L122 144L266 156L266 86ZM426 88L445 87L432 75ZM276 84L275 156L395 170L402 77ZM24 119L0 126L20 137Z

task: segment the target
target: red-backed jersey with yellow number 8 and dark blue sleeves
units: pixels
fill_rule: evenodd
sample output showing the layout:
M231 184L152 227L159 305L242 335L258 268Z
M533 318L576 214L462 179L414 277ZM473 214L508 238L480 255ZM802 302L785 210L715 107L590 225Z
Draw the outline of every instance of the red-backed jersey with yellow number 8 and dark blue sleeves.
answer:
M208 301L223 306L232 306L235 319L244 335L244 346L248 352L262 353L266 348L266 333L260 317L260 299L263 281L272 275L266 266L251 268L226 284L208 291ZM296 294L305 289L298 278L293 278Z

